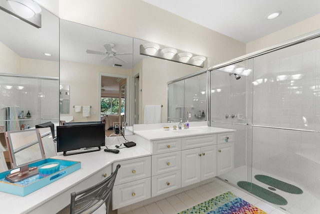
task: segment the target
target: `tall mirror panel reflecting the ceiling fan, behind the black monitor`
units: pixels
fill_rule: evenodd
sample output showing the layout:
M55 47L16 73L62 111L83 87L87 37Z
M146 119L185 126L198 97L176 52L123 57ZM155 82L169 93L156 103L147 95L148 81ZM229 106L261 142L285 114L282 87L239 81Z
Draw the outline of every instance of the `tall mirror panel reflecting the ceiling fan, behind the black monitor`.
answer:
M76 39L74 39L76 38ZM101 108L102 91L113 91L113 84L103 83L102 77L109 77L117 83L117 92L112 97L122 98L121 87L130 93L132 75L132 38L112 32L60 20L60 84L69 85L69 113L72 122L102 120L101 113L117 114L116 122L127 121L132 125L130 97L115 109ZM125 80L125 84L122 81ZM83 117L72 106L90 105L90 116ZM122 110L125 114L120 117ZM102 111L101 111L102 110ZM112 122L113 123L113 122ZM113 125L113 124L111 124ZM105 126L106 129L110 125ZM107 130L106 130L107 131Z

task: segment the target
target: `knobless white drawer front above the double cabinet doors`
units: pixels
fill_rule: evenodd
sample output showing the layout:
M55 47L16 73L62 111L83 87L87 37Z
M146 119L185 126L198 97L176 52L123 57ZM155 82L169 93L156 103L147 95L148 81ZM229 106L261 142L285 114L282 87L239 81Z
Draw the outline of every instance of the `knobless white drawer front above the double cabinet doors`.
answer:
M208 134L201 136L183 137L181 139L181 149L198 148L202 146L210 146L216 144L216 134Z

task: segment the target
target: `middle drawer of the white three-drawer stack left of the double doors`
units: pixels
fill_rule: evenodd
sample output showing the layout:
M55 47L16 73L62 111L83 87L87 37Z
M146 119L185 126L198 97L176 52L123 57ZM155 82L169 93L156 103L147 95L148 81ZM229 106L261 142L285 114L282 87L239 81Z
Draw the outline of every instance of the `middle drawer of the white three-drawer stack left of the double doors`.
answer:
M152 155L151 175L181 169L181 151Z

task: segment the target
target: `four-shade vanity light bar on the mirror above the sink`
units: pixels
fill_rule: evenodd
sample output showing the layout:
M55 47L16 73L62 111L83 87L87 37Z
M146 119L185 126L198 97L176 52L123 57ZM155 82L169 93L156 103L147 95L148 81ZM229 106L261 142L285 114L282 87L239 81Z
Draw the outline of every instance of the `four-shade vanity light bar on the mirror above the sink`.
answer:
M158 59L168 60L172 62L182 63L186 65L203 68L205 57L194 56L194 54L187 53L175 48L170 48L155 43L146 43L140 45L140 54L144 56L154 57Z

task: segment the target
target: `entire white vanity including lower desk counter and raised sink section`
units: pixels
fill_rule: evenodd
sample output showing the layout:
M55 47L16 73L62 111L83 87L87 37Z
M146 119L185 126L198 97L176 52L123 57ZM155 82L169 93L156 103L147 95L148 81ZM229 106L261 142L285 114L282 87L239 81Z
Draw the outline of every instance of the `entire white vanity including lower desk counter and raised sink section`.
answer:
M174 123L166 125L172 129ZM163 130L163 124L134 125L135 135L128 139L137 145L120 149L118 154L103 150L58 154L52 158L80 161L81 168L24 197L0 192L1 213L56 213L69 204L71 192L103 180L117 164L121 168L113 187L112 209L232 169L234 130L191 125L188 130Z

